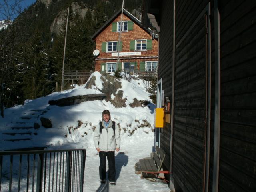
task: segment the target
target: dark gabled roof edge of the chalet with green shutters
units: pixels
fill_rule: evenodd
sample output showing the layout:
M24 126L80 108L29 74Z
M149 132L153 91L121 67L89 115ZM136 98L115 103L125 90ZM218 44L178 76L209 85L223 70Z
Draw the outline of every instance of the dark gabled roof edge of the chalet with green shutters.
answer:
M118 10L118 12L116 12L98 31L96 31L91 38L94 40L108 25L110 25L121 14L121 12L122 8ZM127 10L124 9L123 14L125 14L128 18L130 18L130 20L132 20L134 23L140 26L143 30L148 32L148 34L152 32L152 30L150 30L149 28L142 26L142 22L140 22L140 20L138 20L136 17L130 14L130 12L128 12Z

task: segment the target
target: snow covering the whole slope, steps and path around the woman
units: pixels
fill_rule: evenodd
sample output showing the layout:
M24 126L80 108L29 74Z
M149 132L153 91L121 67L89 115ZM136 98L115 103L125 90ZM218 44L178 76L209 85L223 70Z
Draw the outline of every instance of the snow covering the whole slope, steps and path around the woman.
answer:
M22 106L15 106L5 110L5 118L0 117L0 150L10 150L15 148L28 147L47 147L50 149L71 149L85 148L85 178L84 190L91 191L161 191L169 192L167 184L160 180L152 182L141 179L140 175L135 174L135 163L140 158L150 156L154 146L154 104L145 107L130 107L129 103L133 98L138 100L149 100L150 94L146 92L146 82L143 80L120 80L123 98L126 98L127 107L115 108L111 102L87 101L73 106L49 106L49 100L84 95L98 94L102 90L101 75L94 72L96 77L95 86L85 89L84 86L76 86L73 89L62 92L54 92L48 96L36 100L27 100ZM120 152L116 152L116 186L110 186L108 182L100 185L99 179L99 156L94 147L93 134L95 126L98 126L102 119L103 110L110 110L111 119L120 125L121 146ZM20 117L30 117L23 118ZM52 122L52 128L44 128L40 118L48 118ZM31 140L10 142L4 141L11 127L17 126L17 122L23 121L24 124L33 126L36 122L40 125L39 129L34 130L36 134L30 136ZM78 123L80 126L78 126ZM147 124L144 126L145 122ZM108 166L108 165L107 165Z

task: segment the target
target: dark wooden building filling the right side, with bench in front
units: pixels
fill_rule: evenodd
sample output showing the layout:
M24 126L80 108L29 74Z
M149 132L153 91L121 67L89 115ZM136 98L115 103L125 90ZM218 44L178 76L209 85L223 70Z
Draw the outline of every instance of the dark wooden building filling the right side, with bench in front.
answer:
M172 191L256 191L255 17L256 1L144 0L142 23L160 28L156 145Z

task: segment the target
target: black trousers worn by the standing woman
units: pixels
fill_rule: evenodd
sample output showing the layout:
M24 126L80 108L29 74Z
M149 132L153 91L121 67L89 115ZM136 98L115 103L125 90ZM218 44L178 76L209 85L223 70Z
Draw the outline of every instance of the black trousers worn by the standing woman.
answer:
M116 162L114 151L100 151L100 180L106 180L106 158L108 159L108 180L116 181Z

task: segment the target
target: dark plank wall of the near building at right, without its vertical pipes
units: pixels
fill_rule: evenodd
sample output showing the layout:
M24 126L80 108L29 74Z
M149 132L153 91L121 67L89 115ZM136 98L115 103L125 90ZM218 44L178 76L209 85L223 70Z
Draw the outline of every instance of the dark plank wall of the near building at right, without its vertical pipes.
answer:
M162 0L159 79L172 98L172 2ZM211 2L212 103L210 186L214 150L215 45ZM256 190L256 1L221 0L220 11L220 167L219 191ZM177 46L207 0L176 0L174 128L172 176L183 192L203 191L206 130L206 21L204 17ZM170 124L161 131L160 148L170 156ZM167 163L168 164L168 163Z

